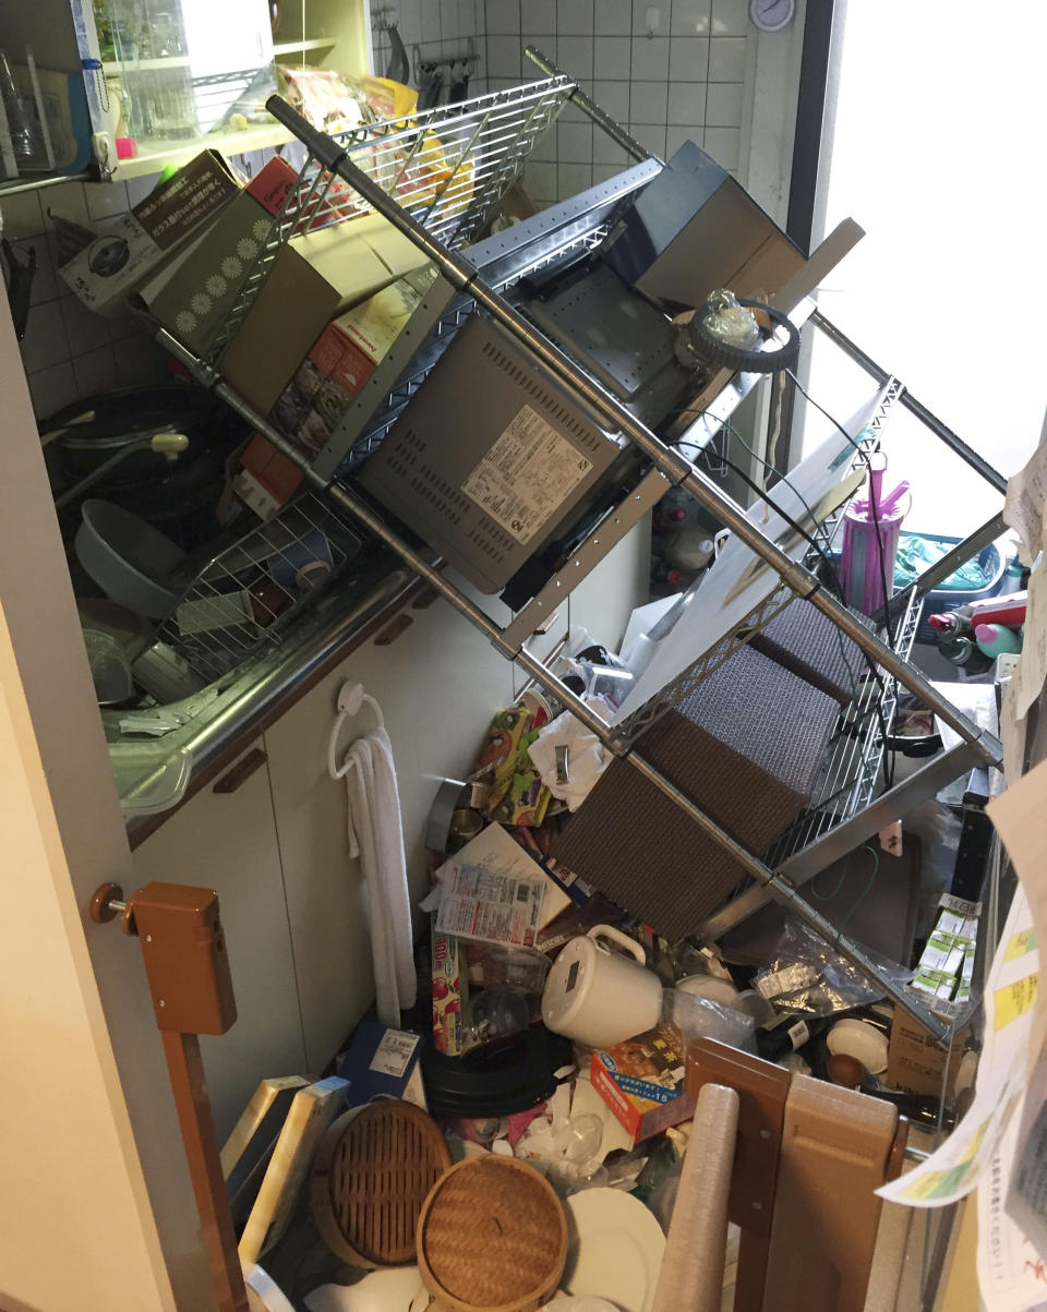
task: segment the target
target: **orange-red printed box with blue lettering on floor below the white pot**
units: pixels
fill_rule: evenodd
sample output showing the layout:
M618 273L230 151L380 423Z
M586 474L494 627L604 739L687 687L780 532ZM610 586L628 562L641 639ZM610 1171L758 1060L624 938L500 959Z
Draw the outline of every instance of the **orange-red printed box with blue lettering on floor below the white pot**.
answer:
M634 1143L694 1115L685 1075L684 1036L668 1022L594 1052L590 1063L593 1089Z

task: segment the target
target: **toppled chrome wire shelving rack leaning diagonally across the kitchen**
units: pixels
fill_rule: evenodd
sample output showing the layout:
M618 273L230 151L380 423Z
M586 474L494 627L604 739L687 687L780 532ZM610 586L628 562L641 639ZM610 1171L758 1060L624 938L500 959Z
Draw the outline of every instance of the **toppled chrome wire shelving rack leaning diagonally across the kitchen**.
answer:
M201 361L180 346L169 335L161 333L160 340L190 367L195 377L244 415L260 433L297 464L303 471L307 483L320 492L336 512L344 513L350 521L362 525L379 542L388 546L420 579L430 584L461 615L468 619L496 649L509 660L516 661L525 674L531 676L569 708L609 750L626 757L640 777L657 787L702 833L712 838L752 876L753 888L749 892L757 895L757 905L761 899L768 900L770 896L787 905L810 928L831 942L834 950L845 955L865 975L875 979L887 996L908 1008L926 1025L932 1034L945 1040L949 1036L950 1026L934 1017L922 1004L908 997L895 977L890 972L884 972L882 966L872 960L859 943L841 934L810 901L804 900L791 882L792 870L796 862L802 861L806 862L806 869L796 876L799 880L816 874L819 869L824 869L840 854L838 844L846 842L853 848L875 833L884 823L882 816L893 819L901 813L905 804L916 804L922 798L932 795L937 787L955 778L972 764L998 760L1000 744L959 714L917 669L907 663L900 651L882 640L878 631L870 631L838 602L832 590L820 584L807 564L798 562L771 541L760 525L752 522L744 510L716 487L706 472L678 449L667 445L622 401L617 400L584 369L547 340L534 324L529 323L503 294L510 286L512 278L501 276L497 258L479 260L476 256L479 247L470 247L468 258L462 256L463 247L483 228L492 206L497 203L497 198L504 194L517 174L539 133L554 121L568 97L634 160L639 161L635 169L628 171L630 174L635 174L636 169L647 169L647 178L649 178L665 167L660 160L649 156L623 129L581 93L571 77L550 64L539 52L529 50L527 55L546 75L543 81L521 87L513 92L496 93L493 97L480 97L479 101L462 106L461 112L457 108L453 112L445 109L432 112L428 118L417 115L409 121L400 121L398 125L386 125L384 130L369 129L358 140L333 140L324 136L306 123L290 106L277 98L270 100L269 108L274 117L293 130L306 147L307 155L299 181L287 197L281 215L273 223L269 249L261 253L257 268L252 273L255 282L260 283L265 277L268 262L272 262L279 245L287 240L293 231L306 231L314 222L335 222L336 214L331 206L341 206L342 216L350 211L362 213L370 207L408 237L432 262L438 274L437 285L442 285L447 295L438 304L434 302L432 320L425 333L412 336L412 346L403 358L398 359L395 373L391 377L380 375L384 394L380 398L369 399L370 409L363 420L365 425L373 416L382 413L383 405L384 415L390 416L391 421L395 417L392 411L401 409L409 403L426 371L424 361L420 361L417 367L412 363L419 344L428 341L430 329L436 328L438 321L443 321L442 336L445 341L450 340L450 336L461 325L463 315L471 311L489 315L496 320L500 329L529 353L535 370L546 371L560 386L572 390L580 401L592 408L609 432L621 433L636 449L636 454L646 459L647 472L643 474L639 483L623 495L598 527L590 531L585 542L572 550L569 559L558 568L550 581L522 611L513 617L509 625L497 623L470 596L445 577L429 556L416 550L395 526L390 525L379 512L357 495L352 480L335 478L340 458L350 450L353 442L341 450L339 461L327 466L319 458L311 462L220 378L219 371L214 369L214 359L222 342L216 344L215 354L210 361ZM454 126L449 122L451 118L455 119ZM426 133L429 131L440 138L446 176L441 178L437 188L430 188L428 194L412 195L409 185L407 194L403 194L399 184L408 178L412 161L424 157L422 152L426 148L433 148L428 146ZM634 176L627 185L622 185L619 197L627 194L630 189L635 190L638 185ZM614 184L611 184L611 189L613 186ZM345 209L346 206L349 209ZM548 220L544 216L539 218L555 226L563 215ZM564 223L567 222L564 220ZM589 230L596 227L594 223L584 226ZM525 224L520 227L525 227ZM516 241L514 234L516 230L504 235L510 247ZM480 243L480 245L483 244ZM241 303L235 307L226 325L228 337L236 331L237 323L249 308L256 291L257 286L244 290ZM455 297L459 298L458 304L454 304ZM802 300L802 293L796 295L796 300ZM811 314L810 308L804 311L804 316L807 314ZM891 383L886 371L838 333L817 311L811 314L811 321L834 340L879 384ZM436 335L437 346L440 336L438 332ZM375 371L373 378L378 383L379 371ZM723 382L728 379L723 379ZM745 379L749 379L749 386L752 386L752 375L739 374L731 380L729 386L739 390L731 392L726 400L724 394L729 388L720 388L719 382L716 388L711 388L715 395L703 399L703 413L698 417L703 430L701 445L706 445L715 437L732 405L744 396L745 392L741 388ZM390 401L388 396L396 388L400 388L400 395ZM917 413L921 421L955 454L972 464L993 487L1002 491L1004 480L1001 476L984 461L980 461L976 453L972 453L955 433L918 405L900 388L900 384L896 388L896 395L900 403ZM371 424L366 430L367 438L370 440L370 436L374 434L380 440L383 426L384 421L380 419L377 424ZM356 432L354 438L361 436L363 436L363 429ZM690 445L695 446L694 442ZM324 453L321 453L323 455ZM787 858L783 867L775 869L768 863L766 858L748 851L733 840L698 803L688 798L672 779L661 774L644 757L640 745L634 745L628 733L623 733L621 727L609 727L583 698L573 694L559 678L551 676L542 661L526 647L527 638L539 628L542 621L554 613L571 588L586 576L615 541L621 541L621 537L639 522L646 509L653 505L670 485L681 487L694 495L719 522L731 529L744 546L750 548L765 565L769 565L779 576L781 585L771 589L766 601L754 607L754 613L748 617L745 623L749 627L765 623L791 597L807 598L815 609L821 611L863 651L870 663L879 665L884 676L890 676L916 694L943 723L955 729L960 739L956 747L942 753L939 758L934 758L933 764L922 766L909 779L888 789L871 804L863 807L862 798L867 798L870 790L875 791L876 789L875 771L879 769L878 752L882 748L882 741L876 740L876 731L866 726L863 732L858 733L858 747L853 754L849 749L845 752L841 748L846 760L840 761L841 774L837 777L854 775L853 787L849 785L852 791L848 794L846 806L842 810L834 806L832 781L837 766L829 761L827 762L824 783L824 790L828 791L823 790L821 794L824 802L821 811L827 815L827 828L820 833L820 837L807 841L806 846ZM998 533L997 521L998 517L983 526L979 534L993 530ZM825 526L821 531L831 538L831 526ZM956 551L959 550L956 548ZM935 569L938 568L945 568L945 564L935 567ZM933 573L934 571L930 571L928 577ZM930 583L928 583L929 585ZM913 596L918 598L921 590L924 590L922 580L921 588L914 589ZM918 609L917 601L914 610L918 613ZM912 621L907 619L907 630L911 623ZM720 659L726 659L731 649L736 649L743 636L739 632L728 635L722 644L724 652ZM698 655L688 676L698 674L702 663L712 659L716 659L715 651ZM855 761L859 764L855 765ZM874 761L876 762L875 771ZM834 786L840 787L838 783ZM844 815L852 806L857 807L854 815L849 820L837 823L840 815ZM849 850L849 848L844 850Z

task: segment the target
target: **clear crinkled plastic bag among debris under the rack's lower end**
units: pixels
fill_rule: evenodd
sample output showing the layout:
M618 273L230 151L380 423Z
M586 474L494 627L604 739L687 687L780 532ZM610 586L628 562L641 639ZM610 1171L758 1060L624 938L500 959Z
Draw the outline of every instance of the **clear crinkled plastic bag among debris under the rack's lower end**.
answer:
M878 953L866 949L866 955L899 985L912 979L912 971ZM792 916L786 918L771 958L757 972L753 985L779 1012L800 1015L832 1015L886 996L857 966Z

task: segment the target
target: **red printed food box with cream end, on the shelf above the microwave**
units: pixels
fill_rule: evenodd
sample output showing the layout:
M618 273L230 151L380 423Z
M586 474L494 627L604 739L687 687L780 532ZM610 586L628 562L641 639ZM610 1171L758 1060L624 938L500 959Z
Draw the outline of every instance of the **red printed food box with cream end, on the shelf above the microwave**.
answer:
M436 277L429 265L377 291L324 328L273 407L279 430L316 457Z

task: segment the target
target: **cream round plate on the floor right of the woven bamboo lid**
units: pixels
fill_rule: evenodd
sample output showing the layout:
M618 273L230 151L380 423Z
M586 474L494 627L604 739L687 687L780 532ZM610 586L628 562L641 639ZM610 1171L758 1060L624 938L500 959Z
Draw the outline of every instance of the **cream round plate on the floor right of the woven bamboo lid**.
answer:
M586 1189L567 1199L569 1241L562 1288L606 1299L622 1312L649 1312L665 1236L638 1199Z

